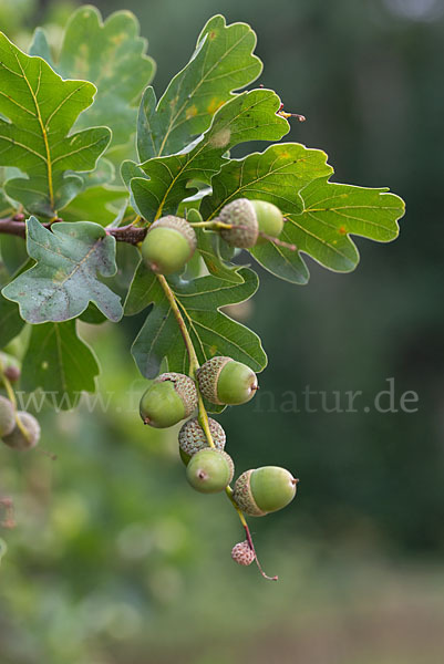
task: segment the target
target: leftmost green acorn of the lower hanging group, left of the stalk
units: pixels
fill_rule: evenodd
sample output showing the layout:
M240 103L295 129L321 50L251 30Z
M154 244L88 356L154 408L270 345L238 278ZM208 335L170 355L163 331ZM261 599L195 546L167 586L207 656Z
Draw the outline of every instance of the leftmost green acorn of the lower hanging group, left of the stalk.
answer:
M144 424L156 428L173 426L197 407L195 382L179 373L163 373L143 394L140 404Z

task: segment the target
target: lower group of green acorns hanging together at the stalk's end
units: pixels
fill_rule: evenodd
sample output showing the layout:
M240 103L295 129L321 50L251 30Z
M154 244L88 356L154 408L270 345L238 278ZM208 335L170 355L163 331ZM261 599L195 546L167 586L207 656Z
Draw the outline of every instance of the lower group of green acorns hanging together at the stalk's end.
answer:
M238 405L248 402L258 387L257 376L246 364L231 357L207 360L197 371L200 394L213 404ZM189 417L197 408L196 383L179 373L163 373L148 386L141 400L144 424L165 428ZM223 491L230 484L235 466L225 452L226 436L216 419L208 418L215 447L208 446L206 434L197 417L192 417L178 434L180 458L186 477L202 494ZM242 473L235 483L233 498L239 509L250 517L262 517L286 507L296 495L298 480L278 466L265 466ZM248 542L236 544L231 556L240 564L255 559Z

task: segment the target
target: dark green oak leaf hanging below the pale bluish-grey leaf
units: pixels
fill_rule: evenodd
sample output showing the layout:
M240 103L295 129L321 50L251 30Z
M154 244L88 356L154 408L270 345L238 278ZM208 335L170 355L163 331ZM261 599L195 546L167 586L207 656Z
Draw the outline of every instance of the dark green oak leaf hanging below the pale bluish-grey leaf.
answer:
M20 386L39 387L47 401L63 411L74 408L81 393L95 392L97 360L76 333L75 321L33 325L23 357Z

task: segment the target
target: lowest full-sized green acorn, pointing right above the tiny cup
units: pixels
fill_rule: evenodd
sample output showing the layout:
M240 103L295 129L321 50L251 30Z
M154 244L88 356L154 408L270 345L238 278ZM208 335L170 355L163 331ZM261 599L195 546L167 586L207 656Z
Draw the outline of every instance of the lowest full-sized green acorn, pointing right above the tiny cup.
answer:
M298 479L279 466L264 466L242 473L233 498L242 512L264 517L286 507L296 496Z

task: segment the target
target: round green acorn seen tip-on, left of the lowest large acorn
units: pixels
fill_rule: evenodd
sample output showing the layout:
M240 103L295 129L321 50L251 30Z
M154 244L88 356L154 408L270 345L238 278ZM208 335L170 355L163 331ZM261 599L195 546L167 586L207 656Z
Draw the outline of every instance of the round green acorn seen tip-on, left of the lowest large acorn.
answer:
M229 485L234 471L233 459L226 452L206 447L189 459L186 477L196 491L217 494Z

